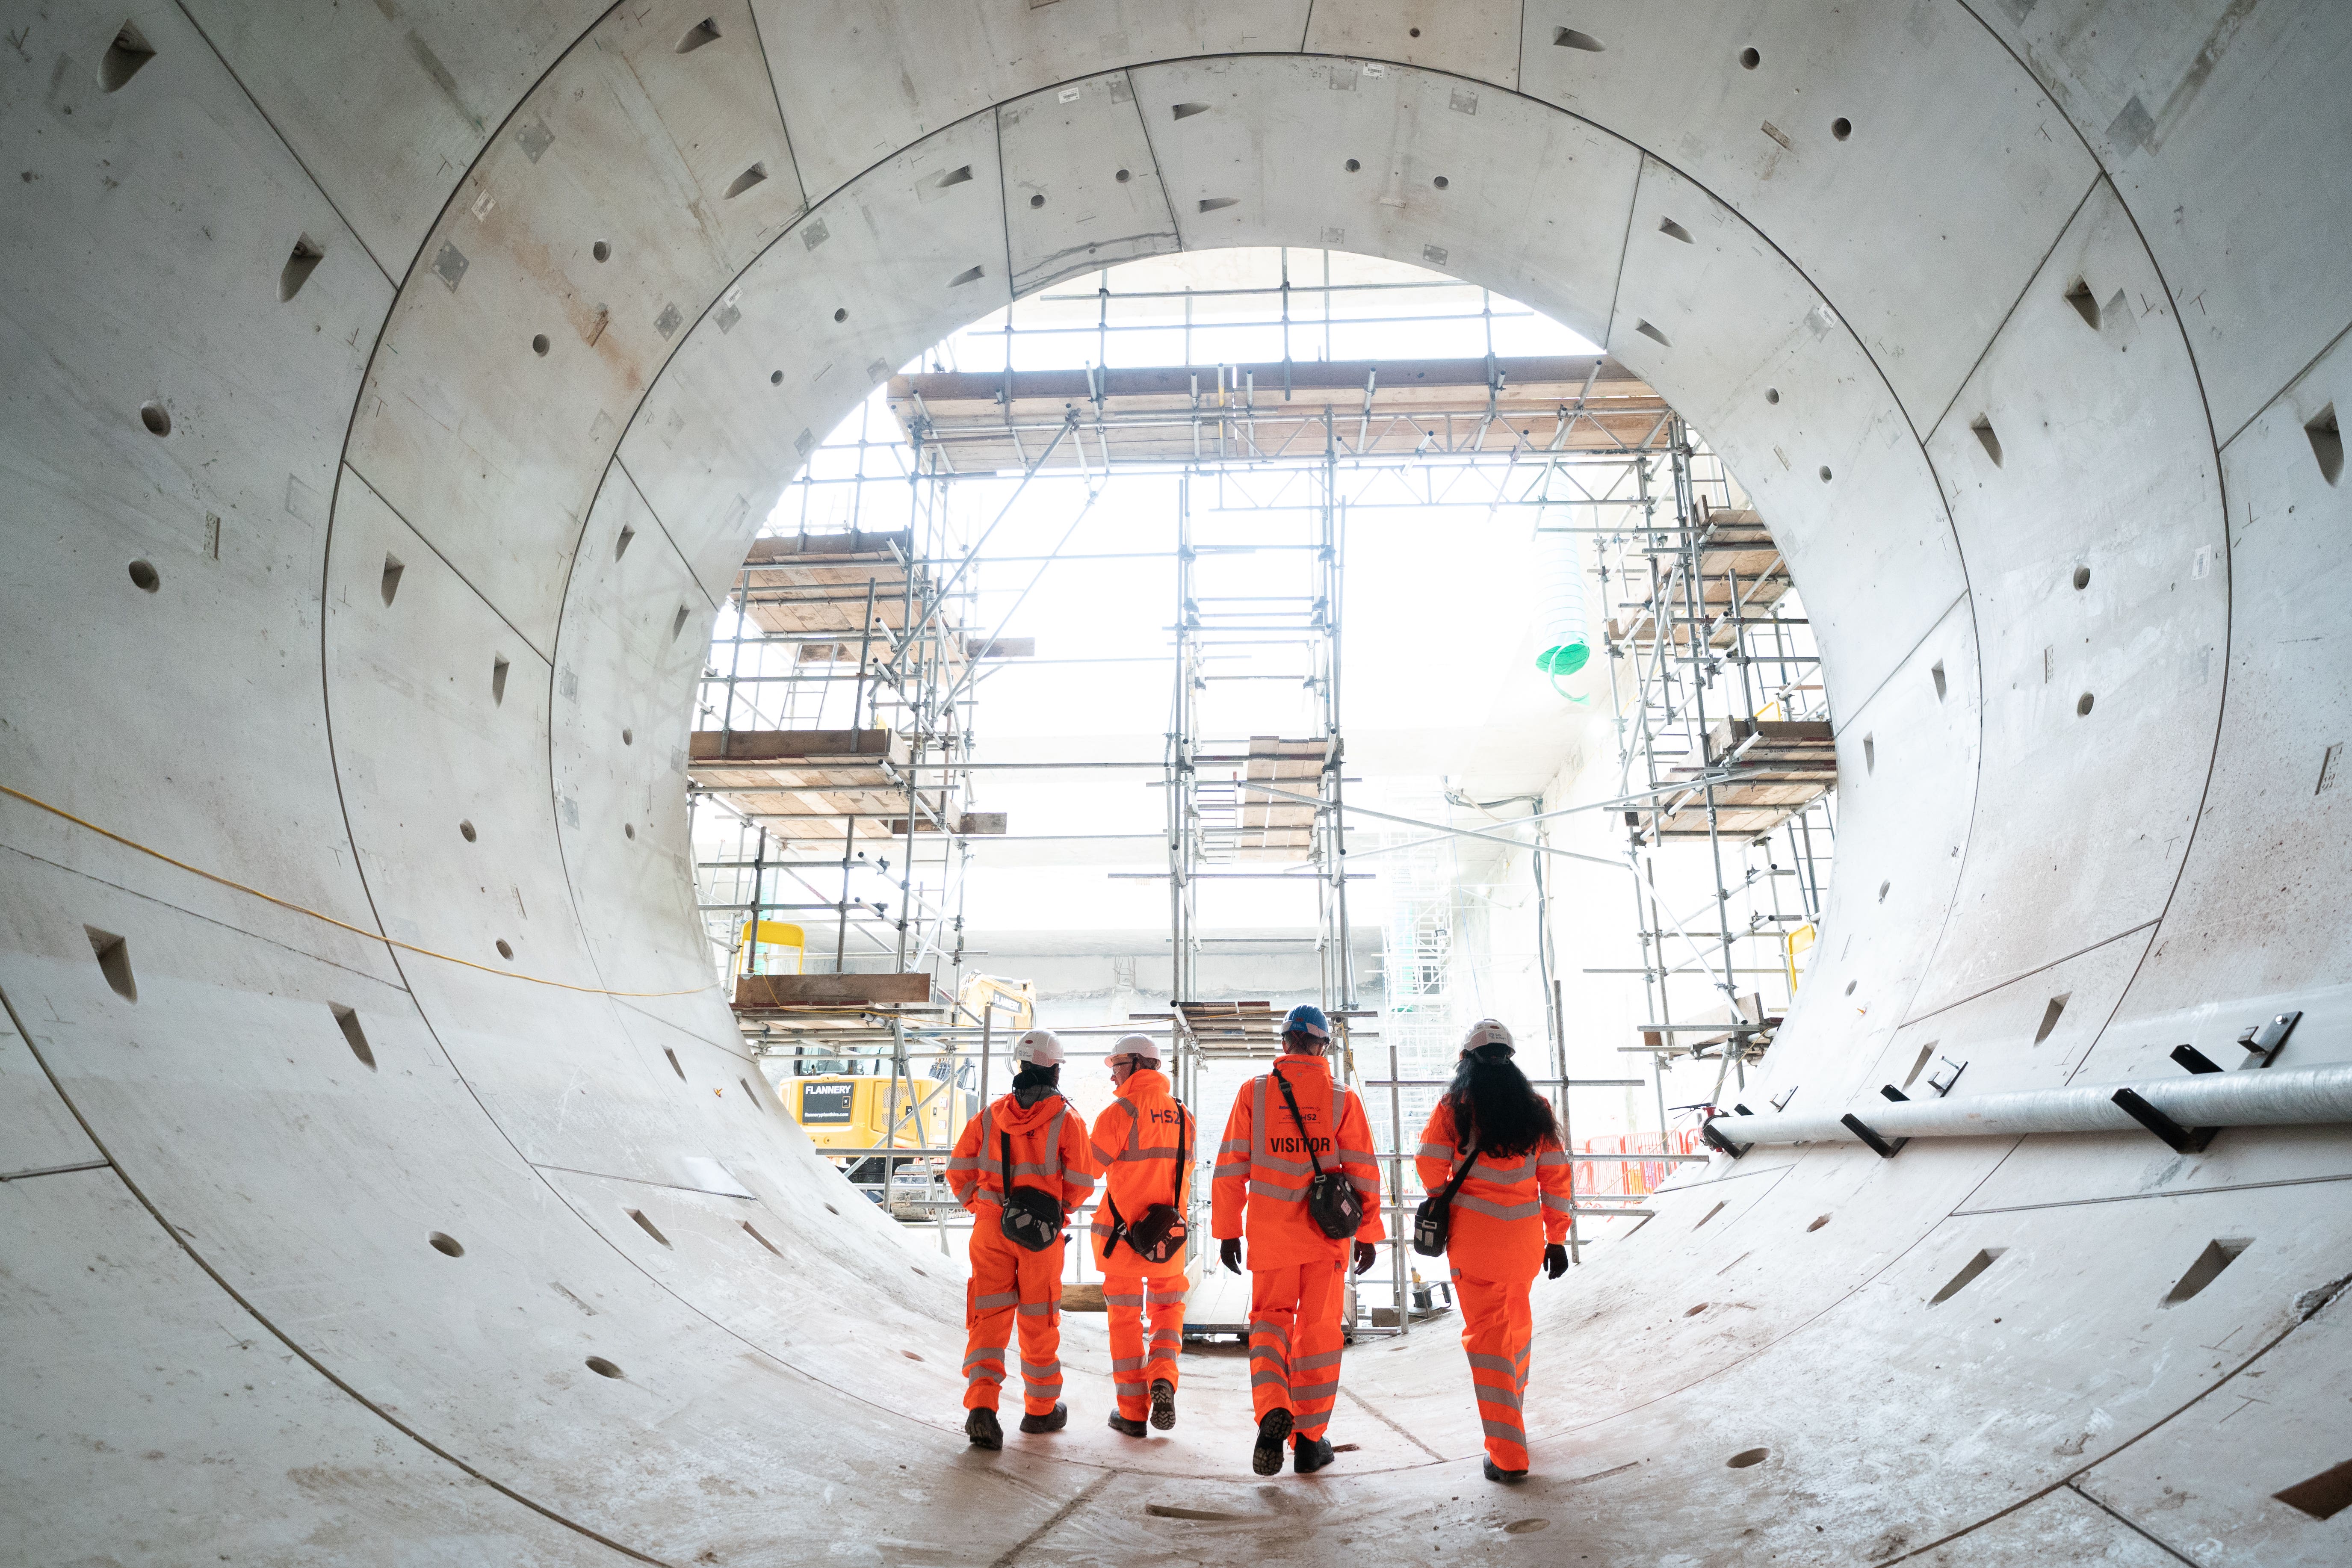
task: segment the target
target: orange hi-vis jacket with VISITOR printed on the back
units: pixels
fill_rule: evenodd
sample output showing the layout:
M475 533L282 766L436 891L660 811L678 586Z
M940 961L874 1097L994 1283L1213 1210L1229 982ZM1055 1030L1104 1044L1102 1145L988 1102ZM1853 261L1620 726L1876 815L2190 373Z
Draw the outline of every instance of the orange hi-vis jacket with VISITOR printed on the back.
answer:
M1327 1237L1308 1218L1308 1182L1315 1164L1301 1138L1282 1088L1282 1074L1298 1100L1305 1138L1315 1140L1315 1159L1327 1173L1345 1173L1364 1199L1364 1222L1355 1241L1381 1241L1381 1166L1371 1152L1371 1124L1352 1088L1331 1081L1331 1060L1284 1053L1275 1070L1242 1084L1225 1117L1225 1143L1216 1150L1216 1180L1209 1182L1209 1232L1218 1239L1249 1234L1251 1269L1296 1267L1345 1258L1348 1237Z

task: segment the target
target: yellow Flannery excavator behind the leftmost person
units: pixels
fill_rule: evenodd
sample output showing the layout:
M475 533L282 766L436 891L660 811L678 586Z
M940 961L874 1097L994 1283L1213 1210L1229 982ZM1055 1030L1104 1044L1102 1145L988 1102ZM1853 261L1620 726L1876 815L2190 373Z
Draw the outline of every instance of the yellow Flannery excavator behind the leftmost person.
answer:
M762 933L762 940L771 940ZM995 1037L1002 1041L1000 1067L1011 1074L1011 1041L1037 1016L1037 987L1033 980L1004 980L1000 976L971 976L957 997L962 1004L957 1023L978 1023L995 1016ZM978 1048L948 1046L950 1056L934 1058L927 1067L913 1067L906 1077L891 1079L891 1058L882 1053L828 1053L826 1046L800 1046L793 1060L793 1077L779 1091L793 1121L809 1133L809 1140L844 1168L849 1180L882 1204L884 1161L856 1154L861 1150L946 1150L971 1117L981 1114L981 1063ZM917 1182L929 1187L946 1171L943 1157L917 1157L896 1164L896 1185Z

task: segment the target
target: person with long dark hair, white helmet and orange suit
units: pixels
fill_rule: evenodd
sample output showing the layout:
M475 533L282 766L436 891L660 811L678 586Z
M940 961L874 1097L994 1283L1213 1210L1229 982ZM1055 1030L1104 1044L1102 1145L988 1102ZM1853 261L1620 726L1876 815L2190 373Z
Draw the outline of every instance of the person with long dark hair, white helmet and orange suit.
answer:
M1526 1352L1534 1333L1529 1291L1541 1265L1569 1272L1569 1154L1550 1103L1510 1060L1510 1030L1494 1018L1470 1027L1454 1084L1421 1131L1421 1185L1439 1194L1461 1175L1446 1206L1446 1262L1463 1309L1470 1389L1486 1427L1486 1479L1526 1476ZM1463 1171L1463 1161L1470 1168Z

